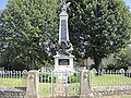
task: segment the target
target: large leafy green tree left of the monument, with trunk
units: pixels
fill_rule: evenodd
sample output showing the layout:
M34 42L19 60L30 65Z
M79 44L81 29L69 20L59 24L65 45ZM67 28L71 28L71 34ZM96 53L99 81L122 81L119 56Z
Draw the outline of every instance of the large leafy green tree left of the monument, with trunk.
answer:
M31 61L31 69L35 69L35 61L50 60L58 34L57 3L57 0L9 1L0 20L3 57Z

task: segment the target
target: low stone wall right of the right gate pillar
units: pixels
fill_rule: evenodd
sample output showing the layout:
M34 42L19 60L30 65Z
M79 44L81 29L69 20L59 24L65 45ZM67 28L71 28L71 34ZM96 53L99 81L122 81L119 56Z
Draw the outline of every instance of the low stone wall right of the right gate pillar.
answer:
M131 86L92 87L93 98L110 95L131 95Z

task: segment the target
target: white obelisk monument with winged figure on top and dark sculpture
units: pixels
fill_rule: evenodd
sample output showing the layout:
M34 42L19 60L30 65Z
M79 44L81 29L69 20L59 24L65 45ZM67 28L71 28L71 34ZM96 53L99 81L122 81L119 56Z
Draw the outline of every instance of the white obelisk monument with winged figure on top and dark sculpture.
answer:
M56 45L57 54L55 58L55 71L73 71L73 58L71 54L73 47L69 40L69 28L68 28L68 13L67 9L69 8L70 2L62 3L60 22L59 22L59 40Z

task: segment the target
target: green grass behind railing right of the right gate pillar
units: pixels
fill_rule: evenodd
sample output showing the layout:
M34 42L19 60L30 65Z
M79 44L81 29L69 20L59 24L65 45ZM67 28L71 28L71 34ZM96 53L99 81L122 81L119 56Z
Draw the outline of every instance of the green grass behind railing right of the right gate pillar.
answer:
M91 86L120 86L131 85L131 77L114 74L104 74L102 76L91 75Z

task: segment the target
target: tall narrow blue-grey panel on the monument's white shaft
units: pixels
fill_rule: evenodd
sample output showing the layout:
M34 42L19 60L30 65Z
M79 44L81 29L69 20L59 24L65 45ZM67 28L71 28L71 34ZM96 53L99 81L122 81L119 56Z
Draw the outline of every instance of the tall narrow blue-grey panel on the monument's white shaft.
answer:
M67 40L67 24L66 24L66 20L61 20L61 40Z

